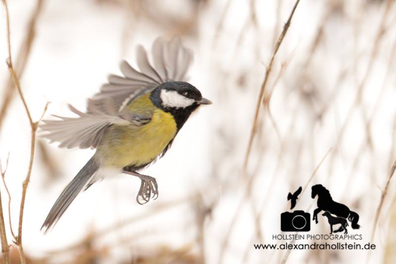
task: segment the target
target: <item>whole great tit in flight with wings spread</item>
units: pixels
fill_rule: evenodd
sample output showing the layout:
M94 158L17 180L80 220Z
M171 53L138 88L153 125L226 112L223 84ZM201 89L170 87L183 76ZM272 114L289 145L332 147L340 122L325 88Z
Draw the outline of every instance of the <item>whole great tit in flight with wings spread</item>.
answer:
M155 178L138 171L163 157L189 116L211 102L187 82L193 52L180 38L158 37L151 53L152 62L138 45L138 69L121 61L122 76L109 75L108 83L87 99L85 112L68 105L76 117L53 115L55 120L39 124L41 136L58 142L58 147L96 149L55 201L41 227L44 233L79 193L105 177L121 173L139 177L136 201L141 205L158 197Z

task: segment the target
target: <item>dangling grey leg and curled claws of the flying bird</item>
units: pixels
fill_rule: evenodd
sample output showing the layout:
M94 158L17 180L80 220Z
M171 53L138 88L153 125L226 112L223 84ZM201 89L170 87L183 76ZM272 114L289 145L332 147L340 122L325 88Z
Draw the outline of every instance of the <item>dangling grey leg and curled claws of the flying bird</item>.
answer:
M138 204L144 205L147 204L150 199L155 200L158 198L158 185L155 178L148 175L140 174L136 171L123 170L122 172L125 174L139 177L142 180L139 193L136 196L136 202L138 202ZM143 202L140 201L140 198L143 200Z

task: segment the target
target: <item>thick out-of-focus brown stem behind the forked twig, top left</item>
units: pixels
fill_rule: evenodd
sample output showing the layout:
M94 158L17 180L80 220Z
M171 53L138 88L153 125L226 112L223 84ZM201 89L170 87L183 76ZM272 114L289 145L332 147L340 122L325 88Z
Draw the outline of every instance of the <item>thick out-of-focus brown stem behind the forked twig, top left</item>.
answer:
M3 0L3 2L4 2L4 0ZM25 71L26 62L29 58L30 51L32 50L33 42L36 37L36 24L37 24L39 15L41 13L41 10L43 9L42 7L43 7L43 0L37 0L36 7L29 19L27 33L22 41L22 45L19 49L19 53L16 58L16 63L14 65L14 69L17 73L17 76L19 76L19 77L21 77ZM14 85L14 82L12 81L11 76L9 76L9 78L6 81L4 91L5 92L2 96L2 103L1 103L1 108L0 108L0 128L3 124L4 117L7 113L8 106L11 104L11 102L14 98L15 85Z

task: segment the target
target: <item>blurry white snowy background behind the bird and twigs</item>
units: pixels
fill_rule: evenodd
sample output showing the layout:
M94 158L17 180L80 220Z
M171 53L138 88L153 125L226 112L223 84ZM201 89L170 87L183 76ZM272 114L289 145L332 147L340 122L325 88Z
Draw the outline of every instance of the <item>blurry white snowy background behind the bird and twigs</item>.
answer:
M253 247L279 242L272 235L281 233L289 191L308 184L296 209L309 207L312 213L310 187L318 183L359 213L362 228L349 232L363 240L355 242L371 241L396 158L394 2L301 0L269 75L264 95L273 91L270 111L262 104L244 170L265 67L294 1L42 0L36 14L35 0L9 1L12 55L14 64L26 57L20 80L34 120L48 101L47 118L71 116L67 103L84 110L86 98L106 76L119 73L120 60L135 65L136 45L149 49L157 36L179 35L194 50L190 82L213 102L200 107L166 156L144 171L157 179L156 201L138 205L139 180L120 175L80 194L47 235L40 227L49 209L94 150L59 149L38 139L23 222L28 258L35 263L395 263L393 181L372 241L375 251L296 250L286 258L287 251ZM17 94L5 100L10 87L4 14L2 9L0 104L9 106L0 122L0 158L4 166L9 153L5 182L16 231L30 126ZM26 52L32 19L35 34ZM12 244L2 184L0 191ZM329 232L321 215L318 225L311 224L312 233Z

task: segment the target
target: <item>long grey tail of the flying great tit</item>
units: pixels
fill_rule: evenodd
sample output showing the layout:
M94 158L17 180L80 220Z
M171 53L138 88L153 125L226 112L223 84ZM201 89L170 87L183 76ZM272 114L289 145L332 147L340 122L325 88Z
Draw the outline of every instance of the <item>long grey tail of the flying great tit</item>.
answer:
M47 233L48 230L56 224L98 168L98 163L95 161L95 158L92 157L77 173L74 179L66 186L63 192L59 195L55 204L53 204L51 211L49 211L48 216L41 227L41 230L44 229L44 233Z

